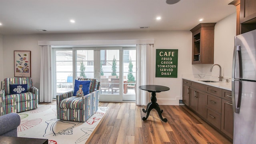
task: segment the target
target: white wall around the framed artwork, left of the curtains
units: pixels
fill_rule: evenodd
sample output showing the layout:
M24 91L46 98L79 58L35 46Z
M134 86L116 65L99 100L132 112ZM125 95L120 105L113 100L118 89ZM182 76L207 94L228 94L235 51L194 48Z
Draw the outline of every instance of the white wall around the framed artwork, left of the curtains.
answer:
M40 49L37 35L3 36L4 78L14 77L14 50L31 51L33 86L40 87Z

